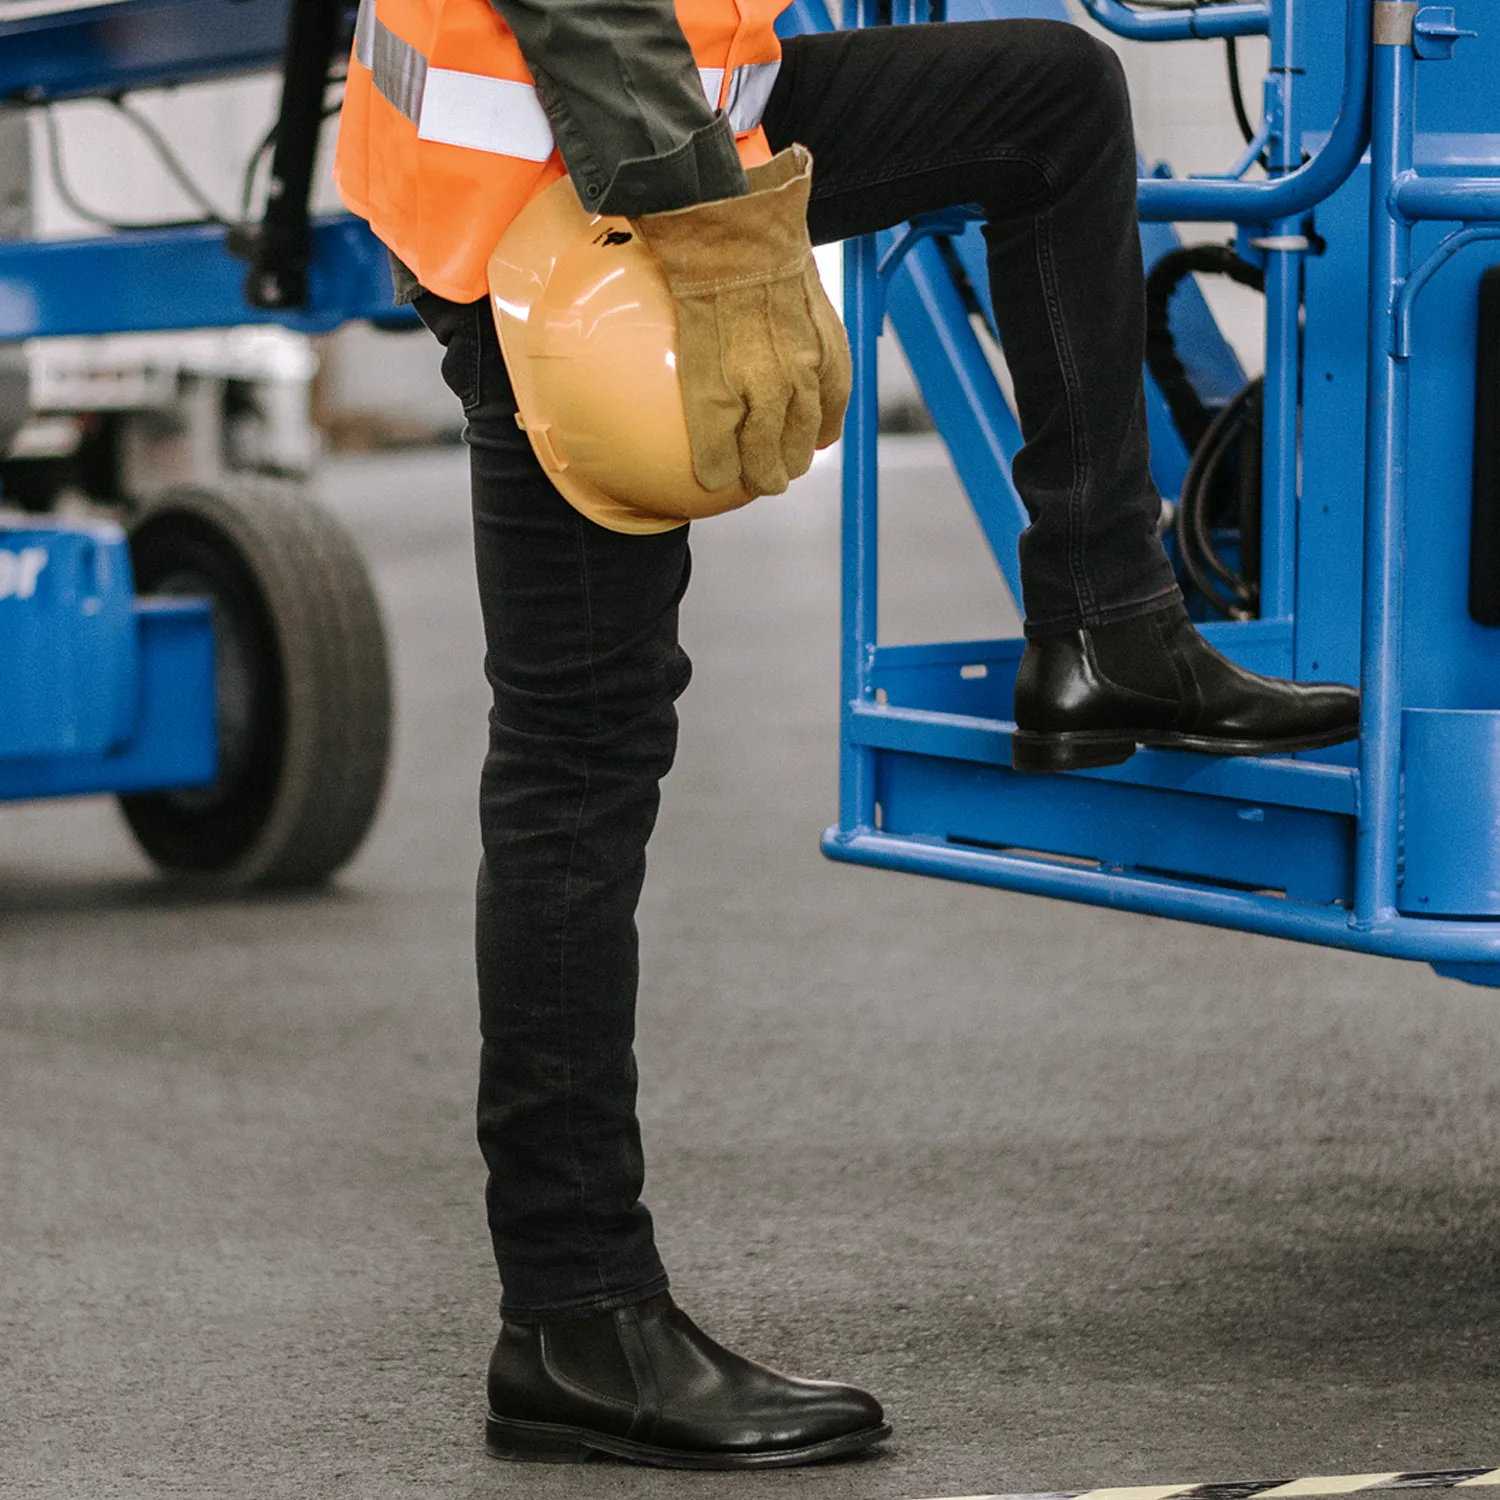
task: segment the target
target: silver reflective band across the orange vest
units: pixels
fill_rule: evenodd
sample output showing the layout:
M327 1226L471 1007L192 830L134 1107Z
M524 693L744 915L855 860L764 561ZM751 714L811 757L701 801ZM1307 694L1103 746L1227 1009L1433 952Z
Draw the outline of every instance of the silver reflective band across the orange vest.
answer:
M411 120L422 141L519 156L528 162L544 162L552 154L552 126L531 84L429 68L417 48L375 15L375 0L360 0L354 57L370 70L375 88ZM760 123L780 66L747 63L734 70L724 112L736 135ZM717 110L724 70L699 68L698 78L704 98Z

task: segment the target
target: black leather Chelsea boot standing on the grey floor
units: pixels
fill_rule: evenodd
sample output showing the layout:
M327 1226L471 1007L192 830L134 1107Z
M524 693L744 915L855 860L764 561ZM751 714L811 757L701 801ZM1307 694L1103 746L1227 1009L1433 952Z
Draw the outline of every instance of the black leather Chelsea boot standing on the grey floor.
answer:
M484 1436L498 1458L784 1468L890 1432L874 1396L732 1354L666 1292L578 1322L502 1323L489 1362Z

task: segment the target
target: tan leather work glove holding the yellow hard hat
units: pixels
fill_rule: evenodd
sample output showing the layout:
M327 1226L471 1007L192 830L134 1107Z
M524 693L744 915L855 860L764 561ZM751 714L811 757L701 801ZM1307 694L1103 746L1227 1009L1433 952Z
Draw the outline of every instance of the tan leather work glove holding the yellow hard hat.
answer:
M852 366L807 238L813 158L789 146L746 177L744 198L632 224L676 302L676 372L693 472L780 495L843 429Z

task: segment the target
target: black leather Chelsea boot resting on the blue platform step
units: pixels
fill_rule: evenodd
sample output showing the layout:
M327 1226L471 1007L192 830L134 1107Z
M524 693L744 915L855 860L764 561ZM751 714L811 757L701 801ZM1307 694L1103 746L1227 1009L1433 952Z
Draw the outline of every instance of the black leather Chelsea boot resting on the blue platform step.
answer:
M1220 656L1180 602L1134 620L1028 640L1016 678L1017 771L1118 765L1137 744L1287 754L1353 740L1359 693L1257 676Z

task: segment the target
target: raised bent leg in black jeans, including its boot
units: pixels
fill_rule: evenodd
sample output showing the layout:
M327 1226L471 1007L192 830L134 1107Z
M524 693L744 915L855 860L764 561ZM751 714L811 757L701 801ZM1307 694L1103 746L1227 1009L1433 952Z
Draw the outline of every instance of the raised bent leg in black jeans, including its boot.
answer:
M1354 738L1353 688L1257 676L1192 628L1156 534L1136 142L1114 54L1060 21L873 27L784 52L765 130L813 152L814 240L952 204L986 213L1030 514L1012 768Z

